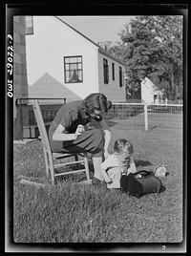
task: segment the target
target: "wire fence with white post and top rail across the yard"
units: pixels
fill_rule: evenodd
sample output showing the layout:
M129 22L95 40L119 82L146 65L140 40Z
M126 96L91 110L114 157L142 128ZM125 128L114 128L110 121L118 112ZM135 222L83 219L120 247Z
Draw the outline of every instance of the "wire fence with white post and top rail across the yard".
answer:
M145 104L145 103L113 103L112 109L105 115L108 123L117 121L127 129L163 128L171 131L182 131L182 104Z

